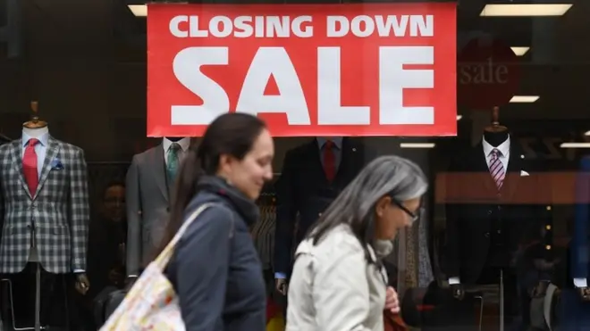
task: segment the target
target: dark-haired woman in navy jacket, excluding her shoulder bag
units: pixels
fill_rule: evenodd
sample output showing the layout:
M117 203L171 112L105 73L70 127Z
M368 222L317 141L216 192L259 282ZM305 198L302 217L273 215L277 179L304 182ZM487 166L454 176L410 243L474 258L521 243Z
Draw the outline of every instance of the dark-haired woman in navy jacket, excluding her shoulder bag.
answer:
M200 206L166 269L188 331L263 331L265 283L249 226L254 203L273 178L273 139L265 123L244 113L218 117L191 148L176 182L170 242Z

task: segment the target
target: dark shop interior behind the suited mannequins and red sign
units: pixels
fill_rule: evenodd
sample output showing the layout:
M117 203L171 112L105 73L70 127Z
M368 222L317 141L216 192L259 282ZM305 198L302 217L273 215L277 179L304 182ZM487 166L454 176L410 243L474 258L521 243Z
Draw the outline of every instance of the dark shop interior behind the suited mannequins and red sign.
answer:
M249 1L259 4L365 2L370 1ZM400 292L427 287L433 281L441 286L453 283L445 274L448 268L445 264L452 263L445 261L443 255L448 246L448 211L461 203L453 204L447 199L451 186L455 186L447 175L453 171L453 165L467 162L459 155L470 153L481 144L485 132L496 132L493 122L506 128L496 136L510 135L521 170L535 178L530 187L543 193L538 194L542 197L531 198L526 203L527 208L538 212L535 215L541 215L535 216L535 220L542 219L538 230L543 234L535 243L541 244L542 250L555 261L552 281L569 284L573 277L568 264L563 262L563 267L557 261L568 255L579 219L577 203L587 204L577 201L576 189L581 163L590 154L590 93L586 83L590 76L587 37L590 2L460 0L457 5L457 137L354 138L376 154L397 154L416 161L430 179L426 212L421 215L419 225L400 235L398 249L392 256ZM146 137L146 14L145 4L134 0L0 0L0 145L20 139L22 123L35 115L48 123L52 137L80 147L89 170L91 223L114 214L125 218L117 210L122 209L119 212L125 214L125 181L133 156L158 148L162 143L162 138ZM491 53L461 52L468 45L473 46L474 41L481 48L488 47L485 52ZM512 52L502 59L508 59L507 62L494 63L493 70L504 66L501 70L508 73L502 71L502 77L494 76L497 71L491 71L485 55L502 58L498 52L506 54L507 49ZM472 70L474 65L480 71ZM277 178L282 173L285 154L309 144L312 139L275 139ZM198 138L192 144L198 144ZM364 159L367 155L355 157ZM468 171L463 163L458 167ZM530 187L523 194L531 194ZM274 194L271 184L260 202L264 221L255 229L260 236L270 238L270 243L274 242L276 220ZM274 250L268 242L259 244L258 248L266 254L262 260L267 269L272 269ZM98 243L105 244L102 239ZM114 254L119 252L115 249ZM106 268L99 277L104 279L97 284L108 284L110 271ZM63 286L67 287L70 280L64 278ZM504 309L499 308L502 300L498 282L492 283L485 289L489 292L483 300L485 304L482 303L485 311L476 310L474 314L476 324L484 330L502 325L499 316ZM99 292L93 289L93 295ZM33 302L28 302L31 311ZM84 306L87 315L72 322L71 329L74 324L87 327L80 330L96 329L93 323L85 323L86 319L94 319L89 308L92 300L82 302L85 303L80 307L88 306ZM73 315L73 310L68 314ZM460 326L455 327L451 329L458 330Z

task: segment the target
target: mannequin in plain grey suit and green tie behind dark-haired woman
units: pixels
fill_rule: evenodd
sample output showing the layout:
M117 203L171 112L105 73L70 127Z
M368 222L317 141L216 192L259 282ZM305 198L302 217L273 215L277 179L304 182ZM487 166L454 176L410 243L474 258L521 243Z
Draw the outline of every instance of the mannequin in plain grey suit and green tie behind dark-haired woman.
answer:
M173 168L178 169L189 146L190 138L164 137L161 145L133 156L126 178L126 264L130 280L152 261L162 240L171 203Z

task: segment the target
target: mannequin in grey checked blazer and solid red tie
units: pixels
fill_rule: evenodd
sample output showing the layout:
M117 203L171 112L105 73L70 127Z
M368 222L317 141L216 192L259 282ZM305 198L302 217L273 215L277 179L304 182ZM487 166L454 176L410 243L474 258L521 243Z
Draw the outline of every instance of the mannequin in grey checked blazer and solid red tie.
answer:
M34 113L37 107L31 103ZM37 283L27 287L37 288L36 329L41 328L41 306L50 299L40 299L46 292L40 277L73 273L76 290L85 294L89 289L86 169L84 151L51 137L46 121L36 116L23 123L21 139L0 146L0 273L17 282L35 270Z

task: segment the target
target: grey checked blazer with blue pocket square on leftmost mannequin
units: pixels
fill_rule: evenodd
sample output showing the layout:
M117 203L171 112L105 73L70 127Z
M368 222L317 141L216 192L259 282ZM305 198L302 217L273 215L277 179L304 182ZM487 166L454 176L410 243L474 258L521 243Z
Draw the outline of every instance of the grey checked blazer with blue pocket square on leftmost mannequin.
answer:
M22 148L21 139L0 146L0 273L25 268L33 229L43 269L58 274L86 270L89 191L84 151L49 137L37 192L31 196L22 173Z

